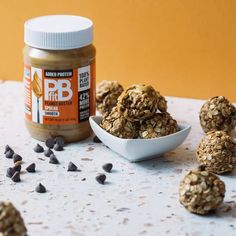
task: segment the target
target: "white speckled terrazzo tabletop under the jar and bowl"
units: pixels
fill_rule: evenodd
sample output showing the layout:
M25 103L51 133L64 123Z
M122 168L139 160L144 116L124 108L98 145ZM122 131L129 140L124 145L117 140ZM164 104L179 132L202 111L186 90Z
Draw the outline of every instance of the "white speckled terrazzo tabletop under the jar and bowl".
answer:
M236 235L236 172L221 177L226 196L215 214L194 215L179 203L179 182L197 166L195 148L204 136L198 121L203 101L167 100L177 121L192 126L176 150L129 163L91 137L57 152L60 165L52 165L33 151L38 141L24 127L23 84L0 82L0 201L12 201L20 210L29 236ZM23 170L35 162L37 172L23 171L20 183L7 178L12 160L4 157L6 144L24 158ZM70 161L81 172L67 172ZM114 169L106 174L106 184L100 185L95 176L103 173L101 166L107 162ZM39 182L46 186L46 193L34 191Z

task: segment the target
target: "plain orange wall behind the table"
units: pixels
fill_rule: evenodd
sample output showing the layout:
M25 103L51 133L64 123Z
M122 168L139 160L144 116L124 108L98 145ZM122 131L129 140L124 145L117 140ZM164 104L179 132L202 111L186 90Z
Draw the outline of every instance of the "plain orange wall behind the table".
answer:
M26 19L78 14L95 23L98 81L236 101L235 0L0 0L0 10L0 79L22 79Z

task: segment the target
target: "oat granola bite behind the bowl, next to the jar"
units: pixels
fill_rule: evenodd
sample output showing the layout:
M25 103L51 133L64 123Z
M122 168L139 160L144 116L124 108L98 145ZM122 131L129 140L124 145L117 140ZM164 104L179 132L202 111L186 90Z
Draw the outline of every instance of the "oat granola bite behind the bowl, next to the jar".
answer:
M117 81L103 80L100 82L96 88L97 110L102 114L111 112L123 90L122 85Z

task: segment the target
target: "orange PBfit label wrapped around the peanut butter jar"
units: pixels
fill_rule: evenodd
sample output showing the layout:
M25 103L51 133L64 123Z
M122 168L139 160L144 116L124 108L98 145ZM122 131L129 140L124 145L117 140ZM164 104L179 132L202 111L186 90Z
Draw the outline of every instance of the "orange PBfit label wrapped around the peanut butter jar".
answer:
M26 119L71 125L95 114L95 64L77 69L24 67Z

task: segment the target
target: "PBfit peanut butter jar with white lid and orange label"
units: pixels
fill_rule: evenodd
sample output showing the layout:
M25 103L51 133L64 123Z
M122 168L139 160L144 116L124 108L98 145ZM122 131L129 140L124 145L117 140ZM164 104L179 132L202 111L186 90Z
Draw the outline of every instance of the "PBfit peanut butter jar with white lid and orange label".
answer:
M24 25L25 122L45 141L87 138L95 113L93 22L72 15L34 18Z

